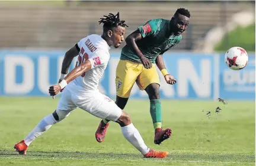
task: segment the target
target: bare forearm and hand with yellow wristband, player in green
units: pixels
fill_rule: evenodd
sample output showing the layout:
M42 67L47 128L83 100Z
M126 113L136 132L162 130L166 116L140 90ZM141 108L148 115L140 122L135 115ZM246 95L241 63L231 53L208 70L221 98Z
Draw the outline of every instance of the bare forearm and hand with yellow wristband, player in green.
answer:
M158 66L158 69L161 71L161 73L163 74L163 76L165 77L165 81L168 84L175 84L176 80L174 79L173 76L171 76L171 74L169 74L169 72L167 71L165 64L164 64L164 59L162 58L162 54L160 54L157 58L156 58L156 66Z

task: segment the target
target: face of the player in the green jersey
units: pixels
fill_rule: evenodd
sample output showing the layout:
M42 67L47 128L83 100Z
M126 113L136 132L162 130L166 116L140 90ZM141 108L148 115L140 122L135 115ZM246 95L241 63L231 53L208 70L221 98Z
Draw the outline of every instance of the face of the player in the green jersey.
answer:
M174 20L172 23L172 27L174 28L174 34L181 35L185 30L187 30L189 18L185 17L185 15L178 14L174 16Z

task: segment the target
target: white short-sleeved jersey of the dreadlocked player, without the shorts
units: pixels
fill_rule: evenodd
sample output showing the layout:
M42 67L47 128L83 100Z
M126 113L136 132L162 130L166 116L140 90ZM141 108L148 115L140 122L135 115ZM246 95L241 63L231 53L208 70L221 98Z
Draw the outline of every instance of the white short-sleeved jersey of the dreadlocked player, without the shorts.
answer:
M80 53L76 61L76 66L91 61L91 70L86 71L81 76L76 77L66 88L77 95L87 96L90 92L98 92L98 84L103 76L110 59L110 46L97 34L88 35L78 42Z

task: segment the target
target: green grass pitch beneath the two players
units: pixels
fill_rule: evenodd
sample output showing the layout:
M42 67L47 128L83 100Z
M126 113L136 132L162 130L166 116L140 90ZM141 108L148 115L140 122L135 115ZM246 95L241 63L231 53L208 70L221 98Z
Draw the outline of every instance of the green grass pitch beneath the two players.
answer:
M255 165L255 103L162 100L164 127L172 137L153 144L148 100L130 100L126 112L155 149L169 151L165 159L145 159L111 122L105 141L95 141L100 119L77 109L37 138L27 155L17 155L14 144L41 118L52 113L58 99L0 98L0 165ZM215 113L220 106L222 112ZM211 111L209 118L207 111Z

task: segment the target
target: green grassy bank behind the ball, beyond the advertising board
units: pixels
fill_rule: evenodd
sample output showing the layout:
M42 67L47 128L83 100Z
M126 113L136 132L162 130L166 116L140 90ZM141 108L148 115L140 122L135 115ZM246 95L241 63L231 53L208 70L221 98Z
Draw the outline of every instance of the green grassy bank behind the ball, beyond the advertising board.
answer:
M255 24L251 24L248 27L238 27L229 32L216 45L215 50L227 51L234 46L242 47L247 52L255 52Z

